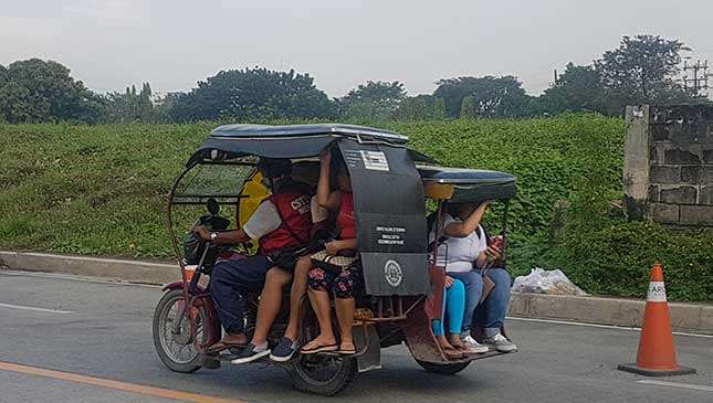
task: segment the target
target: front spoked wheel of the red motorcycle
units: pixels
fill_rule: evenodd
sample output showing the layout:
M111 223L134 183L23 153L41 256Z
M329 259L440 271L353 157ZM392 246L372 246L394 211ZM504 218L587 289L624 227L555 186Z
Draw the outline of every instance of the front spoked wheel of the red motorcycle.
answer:
M158 357L164 364L176 372L193 372L201 365L199 364L200 354L193 346L191 336L191 325L196 324L196 337L200 342L205 342L208 337L203 331L203 324L207 324L207 315L201 307L197 311L195 321L186 312L179 326L177 321L186 300L181 289L174 289L164 295L156 306L154 312L154 346Z

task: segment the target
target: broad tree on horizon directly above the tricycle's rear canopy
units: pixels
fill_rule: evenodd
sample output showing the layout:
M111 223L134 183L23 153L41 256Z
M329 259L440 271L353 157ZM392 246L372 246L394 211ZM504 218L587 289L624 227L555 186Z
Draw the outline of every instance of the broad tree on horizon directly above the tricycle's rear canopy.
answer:
M479 117L520 117L527 115L529 96L517 77L458 77L440 79L433 92L443 98L450 117L459 117L463 98L473 97Z

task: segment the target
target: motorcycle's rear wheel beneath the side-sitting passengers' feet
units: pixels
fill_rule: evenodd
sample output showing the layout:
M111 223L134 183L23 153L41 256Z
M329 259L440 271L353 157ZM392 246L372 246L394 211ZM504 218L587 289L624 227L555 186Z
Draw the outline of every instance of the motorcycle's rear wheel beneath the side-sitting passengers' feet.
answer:
M318 333L319 326L310 309L303 322L303 340L312 340ZM356 373L353 357L301 354L293 364L292 380L300 391L332 396L348 386Z

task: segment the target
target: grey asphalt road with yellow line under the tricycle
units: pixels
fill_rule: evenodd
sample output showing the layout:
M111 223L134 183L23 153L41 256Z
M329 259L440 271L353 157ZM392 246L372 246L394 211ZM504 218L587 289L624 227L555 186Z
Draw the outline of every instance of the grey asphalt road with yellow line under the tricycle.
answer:
M160 296L157 287L0 271L0 402L713 402L713 338L675 337L680 363L696 374L648 379L616 370L635 359L636 331L523 320L507 322L521 352L447 377L394 347L384 369L332 399L294 391L283 370L264 364L179 374L154 352ZM158 397L177 391L190 395Z

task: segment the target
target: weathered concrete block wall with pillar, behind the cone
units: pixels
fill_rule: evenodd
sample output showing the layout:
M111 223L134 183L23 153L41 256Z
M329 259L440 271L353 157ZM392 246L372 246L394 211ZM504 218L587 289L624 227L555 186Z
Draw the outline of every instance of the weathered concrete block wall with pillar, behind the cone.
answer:
M659 223L713 226L713 107L627 108L625 192Z

